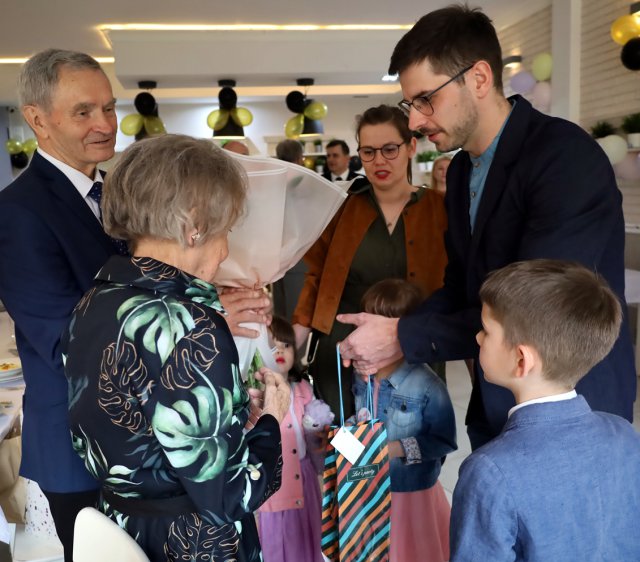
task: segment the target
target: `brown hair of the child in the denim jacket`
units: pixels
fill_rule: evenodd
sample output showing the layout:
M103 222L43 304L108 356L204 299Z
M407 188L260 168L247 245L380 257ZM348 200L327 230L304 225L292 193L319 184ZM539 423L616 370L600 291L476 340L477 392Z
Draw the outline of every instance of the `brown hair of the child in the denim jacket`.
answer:
M383 279L362 296L362 310L387 318L398 318L415 310L424 300L420 287L404 279Z

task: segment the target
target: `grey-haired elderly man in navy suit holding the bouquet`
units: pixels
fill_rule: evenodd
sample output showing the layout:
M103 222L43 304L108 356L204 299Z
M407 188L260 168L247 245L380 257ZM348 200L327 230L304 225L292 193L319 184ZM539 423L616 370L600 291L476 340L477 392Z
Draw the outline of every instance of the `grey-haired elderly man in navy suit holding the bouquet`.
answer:
M93 58L58 49L25 63L19 93L38 150L0 192L0 299L26 382L20 473L43 490L71 562L76 514L96 503L98 483L72 447L60 336L107 258L126 253L102 229L96 167L114 155L116 100ZM238 324L266 321L268 299L238 290L222 299L234 335L255 337Z

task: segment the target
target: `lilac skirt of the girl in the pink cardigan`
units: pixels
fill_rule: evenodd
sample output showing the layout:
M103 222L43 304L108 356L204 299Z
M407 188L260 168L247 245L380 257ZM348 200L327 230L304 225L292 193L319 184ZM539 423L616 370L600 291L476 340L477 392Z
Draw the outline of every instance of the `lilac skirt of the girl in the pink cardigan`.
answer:
M323 562L320 550L322 499L311 460L300 461L302 509L260 512L258 529L264 562Z

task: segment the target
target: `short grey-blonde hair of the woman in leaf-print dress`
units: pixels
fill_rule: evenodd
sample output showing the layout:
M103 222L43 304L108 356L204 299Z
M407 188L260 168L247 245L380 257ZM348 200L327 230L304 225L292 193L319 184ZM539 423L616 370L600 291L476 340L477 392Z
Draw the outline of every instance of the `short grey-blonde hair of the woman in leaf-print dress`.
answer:
M143 237L186 246L186 231L217 236L242 216L247 179L212 141L163 135L129 146L107 174L105 231L133 243Z

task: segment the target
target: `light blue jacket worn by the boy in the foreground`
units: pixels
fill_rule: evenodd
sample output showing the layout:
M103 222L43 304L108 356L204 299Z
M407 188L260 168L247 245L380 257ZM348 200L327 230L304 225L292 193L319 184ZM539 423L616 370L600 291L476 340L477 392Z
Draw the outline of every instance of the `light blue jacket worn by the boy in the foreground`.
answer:
M640 435L578 396L516 410L467 457L451 562L640 560Z

